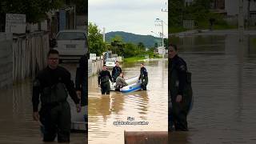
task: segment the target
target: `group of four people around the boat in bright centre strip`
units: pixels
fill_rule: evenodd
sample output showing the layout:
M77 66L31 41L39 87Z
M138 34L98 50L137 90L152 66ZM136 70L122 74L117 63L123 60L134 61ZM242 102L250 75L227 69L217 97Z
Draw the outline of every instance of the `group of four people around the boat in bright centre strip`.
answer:
M112 86L114 86L114 90L116 91L120 91L123 87L129 85L124 78L124 74L122 73L118 61L115 62L115 66L112 69L112 75L110 74L110 71L107 70L106 65L102 66L102 71L98 75L98 86L101 87L102 94L110 94L110 82L112 82ZM139 82L141 83L139 89L146 90L148 75L143 63L141 63L140 75L137 79L137 83Z

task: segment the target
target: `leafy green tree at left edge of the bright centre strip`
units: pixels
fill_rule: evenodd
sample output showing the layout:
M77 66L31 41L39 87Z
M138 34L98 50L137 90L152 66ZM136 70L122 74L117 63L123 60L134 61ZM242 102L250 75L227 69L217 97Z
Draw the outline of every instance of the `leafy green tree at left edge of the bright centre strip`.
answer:
M88 43L89 43L89 52L96 54L98 56L106 50L106 44L103 42L101 31L98 29L98 26L89 22L88 26Z

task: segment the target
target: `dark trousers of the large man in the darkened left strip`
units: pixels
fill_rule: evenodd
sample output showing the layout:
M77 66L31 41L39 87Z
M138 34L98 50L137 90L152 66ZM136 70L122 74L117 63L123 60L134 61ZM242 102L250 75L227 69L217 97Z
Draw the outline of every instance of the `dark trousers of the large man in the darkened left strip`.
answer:
M68 102L43 106L40 110L40 121L44 126L44 142L53 142L56 134L58 142L70 142L71 114Z

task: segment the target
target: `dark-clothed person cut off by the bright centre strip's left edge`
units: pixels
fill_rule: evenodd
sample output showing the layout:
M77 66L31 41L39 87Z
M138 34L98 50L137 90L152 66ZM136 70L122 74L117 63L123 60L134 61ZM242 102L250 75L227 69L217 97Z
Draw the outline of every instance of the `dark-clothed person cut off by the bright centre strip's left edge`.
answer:
M81 98L81 106L88 106L88 59L86 54L82 55L79 60L79 66L76 72L75 88L77 90L78 97Z

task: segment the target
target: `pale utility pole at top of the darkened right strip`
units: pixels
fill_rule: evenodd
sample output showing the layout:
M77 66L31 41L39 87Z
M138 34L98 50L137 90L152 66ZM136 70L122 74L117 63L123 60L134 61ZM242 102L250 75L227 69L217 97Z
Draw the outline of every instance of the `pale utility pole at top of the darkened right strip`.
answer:
M243 30L244 30L244 18L243 18L243 0L239 0L238 7L238 31L239 31L239 42L243 41Z

